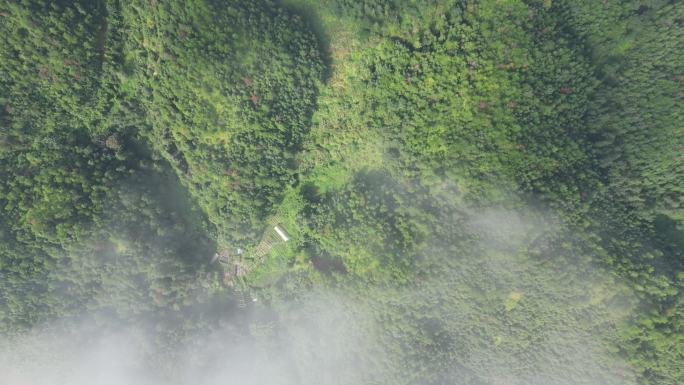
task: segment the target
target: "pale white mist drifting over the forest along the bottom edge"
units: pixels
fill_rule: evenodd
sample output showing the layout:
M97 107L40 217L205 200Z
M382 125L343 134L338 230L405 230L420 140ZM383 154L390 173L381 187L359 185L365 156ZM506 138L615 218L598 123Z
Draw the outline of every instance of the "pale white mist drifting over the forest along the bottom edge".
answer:
M43 325L2 341L0 384L633 383L606 332L632 294L579 258L575 271L529 258L561 231L533 218L465 213L472 254L428 243L421 252L445 259L414 283L347 282L232 310L242 313L173 351L155 347L163 336L144 318Z

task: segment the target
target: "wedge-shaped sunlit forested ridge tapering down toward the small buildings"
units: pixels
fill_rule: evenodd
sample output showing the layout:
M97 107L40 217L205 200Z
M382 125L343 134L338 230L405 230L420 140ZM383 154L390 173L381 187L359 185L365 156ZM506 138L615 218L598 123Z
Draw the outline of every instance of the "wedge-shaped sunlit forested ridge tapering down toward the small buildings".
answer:
M294 181L322 76L315 38L268 3L146 4L121 12L123 76L150 142L222 240L254 241Z

